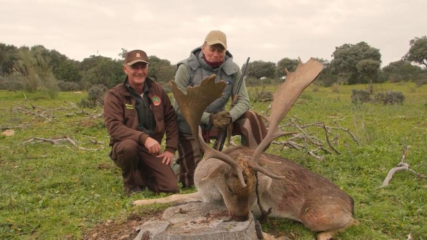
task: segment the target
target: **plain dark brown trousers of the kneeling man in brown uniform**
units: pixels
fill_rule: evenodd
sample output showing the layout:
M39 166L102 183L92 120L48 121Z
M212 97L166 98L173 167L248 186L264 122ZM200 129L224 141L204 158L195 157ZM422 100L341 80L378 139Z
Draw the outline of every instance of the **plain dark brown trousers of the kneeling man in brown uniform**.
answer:
M125 190L148 187L153 192L178 192L172 168L131 139L115 143L111 158L121 168Z

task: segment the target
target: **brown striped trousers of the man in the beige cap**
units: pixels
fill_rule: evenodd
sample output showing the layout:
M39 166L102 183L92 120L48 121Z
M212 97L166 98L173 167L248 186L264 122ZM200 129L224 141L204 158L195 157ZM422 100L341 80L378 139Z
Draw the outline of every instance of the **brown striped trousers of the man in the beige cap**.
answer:
M215 138L217 130L210 131L210 138ZM245 112L239 119L233 123L232 135L241 135L241 143L250 148L256 148L258 144L267 135L262 117L252 111ZM204 136L206 134L203 134ZM194 171L197 163L202 160L203 153L197 146L193 135L179 133L178 141L179 158L177 163L180 164L178 179L184 187L194 185Z

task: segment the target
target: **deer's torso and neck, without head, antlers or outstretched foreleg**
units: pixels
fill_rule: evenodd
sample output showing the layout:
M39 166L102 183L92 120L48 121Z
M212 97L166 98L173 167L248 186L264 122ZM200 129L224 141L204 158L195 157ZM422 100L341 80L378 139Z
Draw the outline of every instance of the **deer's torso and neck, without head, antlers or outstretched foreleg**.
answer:
M251 156L253 152L254 149L242 146L224 150L233 159ZM353 222L353 199L330 180L291 160L266 153L260 158L280 162L263 167L275 175L286 177L272 179L258 173L260 201L262 206L273 208L270 217L299 221L315 232L338 229ZM216 168L223 168L222 176L204 179ZM227 202L229 194L224 194L227 191L225 178L233 175L231 171L230 166L221 160L201 161L195 172L195 184L203 196L201 200ZM255 216L260 215L255 189L250 192L248 207Z

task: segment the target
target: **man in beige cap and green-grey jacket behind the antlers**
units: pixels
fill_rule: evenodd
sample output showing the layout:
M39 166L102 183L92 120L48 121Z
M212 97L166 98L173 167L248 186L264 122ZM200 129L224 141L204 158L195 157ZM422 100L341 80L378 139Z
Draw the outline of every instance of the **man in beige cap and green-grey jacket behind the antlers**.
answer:
M216 75L215 81L224 80L227 86L223 96L213 101L202 115L200 127L205 141L209 142L211 137L216 136L218 129L233 123L233 135L241 134L243 145L256 147L265 137L267 130L261 117L248 111L250 103L245 81L236 93L242 72L233 62L233 56L227 50L226 35L221 31L209 32L203 45L192 50L189 58L178 63L175 82L181 91L186 93L187 86L199 85L201 80L213 74ZM227 101L236 94L236 105L230 111L225 111ZM179 130L179 180L183 186L190 187L194 184L194 171L202 159L202 153L195 144L190 127L181 116L177 104L175 108Z

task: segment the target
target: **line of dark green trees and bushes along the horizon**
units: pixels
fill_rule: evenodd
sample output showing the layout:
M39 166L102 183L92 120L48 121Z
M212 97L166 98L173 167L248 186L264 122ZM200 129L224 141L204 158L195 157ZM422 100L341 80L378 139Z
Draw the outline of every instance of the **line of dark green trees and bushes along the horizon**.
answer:
M25 88L27 91L36 91L53 89L56 85L62 91L75 91L89 89L94 84L103 84L111 88L125 78L122 64L127 52L127 49L121 48L118 53L119 59L91 55L82 61L75 61L43 45L17 48L0 43L0 88L15 90ZM427 66L427 36L412 39L410 49L402 60L390 63L382 70L379 49L371 47L366 42L343 44L335 48L331 57L330 62L326 59L317 59L325 67L316 82L324 86L331 86L340 80L345 80L349 84L385 80L425 82L426 70L411 63ZM150 62L148 77L167 88L164 83L173 80L176 66L155 55L149 56L148 59ZM285 68L292 72L297 65L298 61L289 57L280 59L277 64L262 60L250 62L246 70L246 76L249 77L247 82L249 80L253 84L281 82L286 77ZM245 65L242 66L242 70L244 68ZM260 81L261 79L263 81Z

